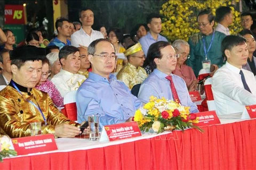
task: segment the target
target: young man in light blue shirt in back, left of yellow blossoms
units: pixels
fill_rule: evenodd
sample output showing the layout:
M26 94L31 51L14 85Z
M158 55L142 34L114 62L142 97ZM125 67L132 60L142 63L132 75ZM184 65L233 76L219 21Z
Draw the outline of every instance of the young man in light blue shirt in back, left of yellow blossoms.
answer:
M143 52L147 56L148 48L151 44L156 43L157 41L167 41L167 39L159 33L162 30L162 19L161 15L156 13L151 13L147 17L147 24L149 31L146 36L140 38L140 44L142 46Z

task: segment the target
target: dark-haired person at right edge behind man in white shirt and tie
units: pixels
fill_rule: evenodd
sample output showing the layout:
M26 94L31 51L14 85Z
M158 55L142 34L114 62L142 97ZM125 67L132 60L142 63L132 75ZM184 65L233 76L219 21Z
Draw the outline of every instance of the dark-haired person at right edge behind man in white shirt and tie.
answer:
M243 69L251 71L254 75L256 75L256 57L253 56L253 52L256 50L256 42L253 37L253 33L251 30L243 30L239 32L239 34L246 39L246 44L249 51L249 57L247 58L247 63L243 65Z

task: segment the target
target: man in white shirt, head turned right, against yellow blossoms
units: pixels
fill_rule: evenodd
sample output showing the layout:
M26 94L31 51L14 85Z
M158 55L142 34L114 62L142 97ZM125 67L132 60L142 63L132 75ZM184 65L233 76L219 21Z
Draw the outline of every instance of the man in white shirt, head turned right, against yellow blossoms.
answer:
M216 22L218 25L215 30L225 33L225 35L230 35L228 26L233 23L233 13L231 12L231 8L229 6L220 6L216 10Z

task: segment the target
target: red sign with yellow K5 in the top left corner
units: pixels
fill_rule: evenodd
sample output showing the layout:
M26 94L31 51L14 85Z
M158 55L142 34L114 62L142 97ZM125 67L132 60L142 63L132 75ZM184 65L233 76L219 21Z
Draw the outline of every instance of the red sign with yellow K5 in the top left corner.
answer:
M5 24L27 24L26 7L23 5L5 5Z

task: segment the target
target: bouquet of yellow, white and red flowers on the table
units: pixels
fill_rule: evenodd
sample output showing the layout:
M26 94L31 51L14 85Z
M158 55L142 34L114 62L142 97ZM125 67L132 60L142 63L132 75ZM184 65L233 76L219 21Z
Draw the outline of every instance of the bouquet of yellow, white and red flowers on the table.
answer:
M157 99L154 96L135 112L134 121L138 122L141 131L146 132L152 128L154 132L160 133L167 126L182 131L186 128L196 128L202 132L202 129L193 125L199 122L199 118L196 114L189 113L189 107L181 106L173 100Z

